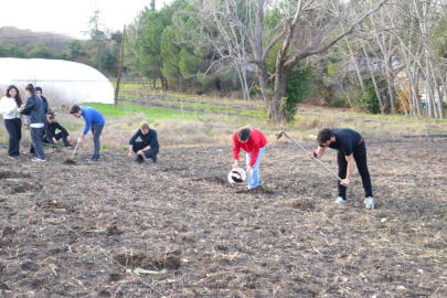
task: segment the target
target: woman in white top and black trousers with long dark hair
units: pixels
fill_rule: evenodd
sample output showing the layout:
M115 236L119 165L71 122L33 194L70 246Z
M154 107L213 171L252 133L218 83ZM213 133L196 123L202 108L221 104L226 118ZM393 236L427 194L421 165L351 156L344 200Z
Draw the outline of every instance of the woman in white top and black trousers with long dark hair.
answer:
M22 118L19 108L23 105L19 89L11 85L0 100L0 113L3 115L4 127L8 131L8 157L20 158L20 140L22 139Z

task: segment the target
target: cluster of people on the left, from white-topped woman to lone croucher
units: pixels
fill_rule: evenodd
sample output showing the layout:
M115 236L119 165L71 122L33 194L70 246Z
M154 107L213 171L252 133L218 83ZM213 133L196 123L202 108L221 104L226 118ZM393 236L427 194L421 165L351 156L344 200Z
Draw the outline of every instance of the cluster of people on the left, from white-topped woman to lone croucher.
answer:
M0 114L3 115L4 127L9 136L8 157L11 159L20 158L20 141L22 139L22 115L25 116L24 126L31 132L31 149L30 153L34 156L32 161L44 162L46 156L43 146L57 145L62 139L66 148L72 148L72 137L68 131L57 123L57 117L53 110L49 108L49 100L42 96L42 88L35 87L32 84L26 85L25 94L26 103L20 96L19 89L11 85L7 88L4 97L0 100ZM70 114L76 118L84 118L85 126L77 138L77 143L81 143L85 136L92 130L94 152L87 159L88 162L95 163L99 161L100 135L106 124L103 115L88 106L74 105L70 108ZM60 130L56 132L56 130ZM137 139L140 138L140 141ZM129 140L129 158L132 153L137 155L136 161L141 163L147 159L152 159L153 163L158 163L157 155L159 152L159 142L157 131L149 128L147 123L141 124L138 131Z

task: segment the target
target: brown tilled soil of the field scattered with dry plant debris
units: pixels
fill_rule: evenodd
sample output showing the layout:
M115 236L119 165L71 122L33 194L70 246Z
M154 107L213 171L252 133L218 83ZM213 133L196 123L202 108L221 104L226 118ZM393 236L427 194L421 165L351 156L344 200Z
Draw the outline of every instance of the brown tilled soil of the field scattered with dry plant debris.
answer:
M0 297L447 297L447 139L366 147L374 211L356 172L334 205L334 179L287 140L252 192L226 181L230 145L161 148L158 166L0 149Z

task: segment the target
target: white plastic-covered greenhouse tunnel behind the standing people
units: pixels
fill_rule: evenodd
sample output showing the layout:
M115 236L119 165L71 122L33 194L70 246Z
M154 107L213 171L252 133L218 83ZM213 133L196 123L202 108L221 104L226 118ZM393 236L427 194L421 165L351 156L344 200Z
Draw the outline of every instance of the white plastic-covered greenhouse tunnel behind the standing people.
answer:
M43 96L57 97L61 102L114 103L110 82L88 65L63 60L0 58L0 88L3 92L9 85L15 85L20 93L23 91L24 98L28 84L42 87Z

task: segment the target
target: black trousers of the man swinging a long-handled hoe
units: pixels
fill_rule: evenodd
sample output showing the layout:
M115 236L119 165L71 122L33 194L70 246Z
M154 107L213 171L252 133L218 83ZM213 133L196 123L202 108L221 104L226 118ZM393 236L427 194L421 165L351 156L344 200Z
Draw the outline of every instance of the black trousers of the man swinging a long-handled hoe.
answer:
M359 173L362 178L365 198L373 196L370 171L368 170L366 164L366 145L364 143L364 141L362 141L362 143L358 147L353 148L352 153L356 163L356 168L359 169ZM339 164L339 177L341 179L344 179L347 177L348 161L342 150L338 150L337 161ZM347 188L341 185L340 181L337 181L337 185L339 188L339 196L347 199Z

